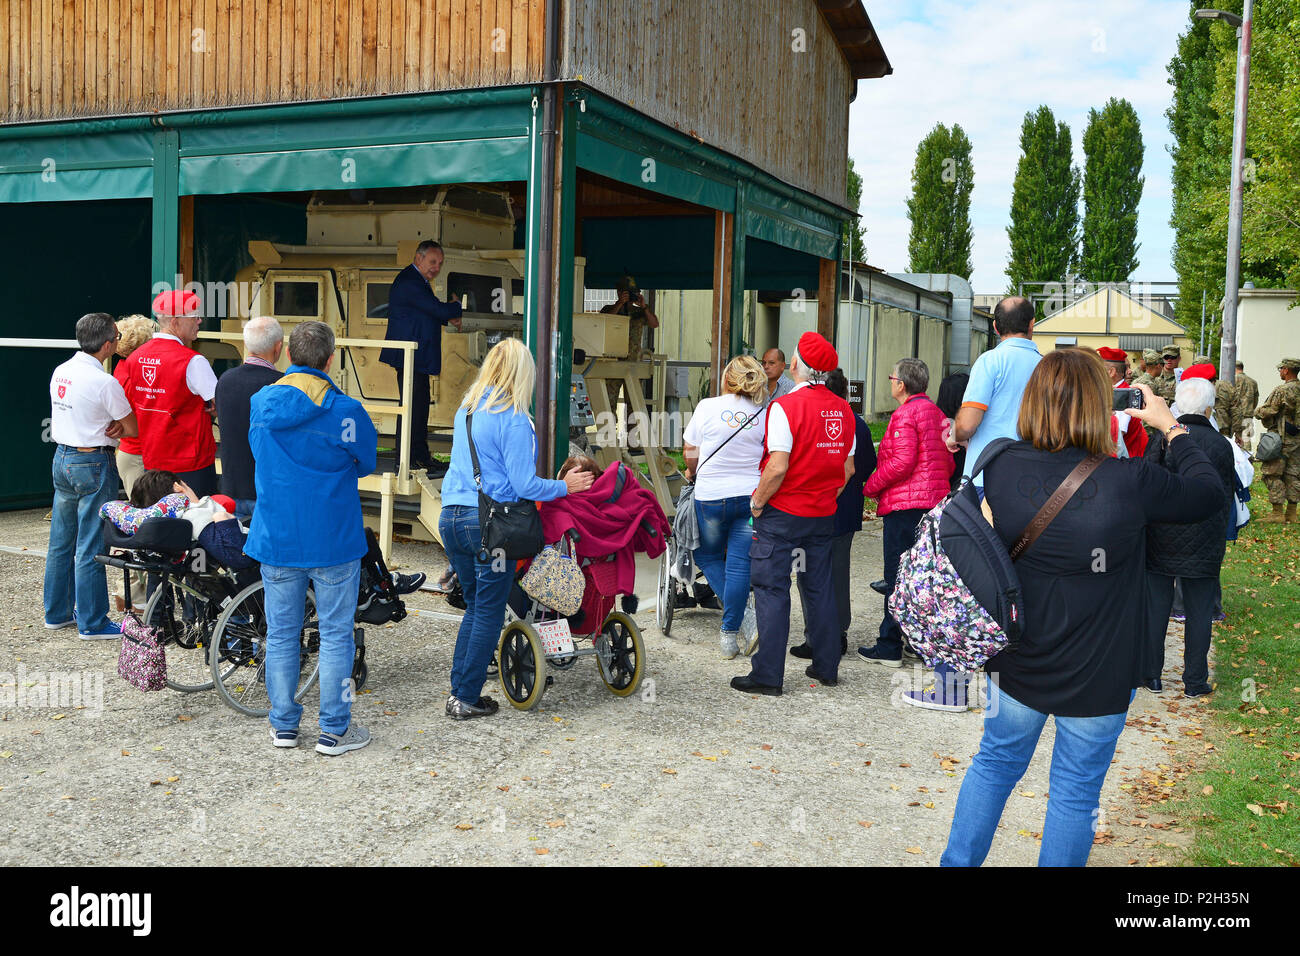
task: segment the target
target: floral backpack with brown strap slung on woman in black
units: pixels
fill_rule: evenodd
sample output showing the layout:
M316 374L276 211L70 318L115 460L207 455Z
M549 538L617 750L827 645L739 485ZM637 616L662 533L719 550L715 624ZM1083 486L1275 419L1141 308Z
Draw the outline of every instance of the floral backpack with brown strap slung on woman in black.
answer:
M984 516L974 477L1011 444L998 438L984 449L970 477L920 519L916 542L900 561L889 611L928 666L976 671L1015 650L1024 600L1014 562L1102 460L1080 462L1008 550Z

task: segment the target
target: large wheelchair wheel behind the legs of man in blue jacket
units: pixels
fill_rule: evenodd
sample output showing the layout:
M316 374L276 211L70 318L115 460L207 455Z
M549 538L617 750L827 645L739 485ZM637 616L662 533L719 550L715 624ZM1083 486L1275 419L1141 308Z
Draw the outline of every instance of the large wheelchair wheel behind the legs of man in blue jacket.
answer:
M228 705L248 717L270 713L266 696L266 605L261 581L254 581L240 591L221 611L209 654L212 680L217 693ZM320 623L316 619L316 598L311 588L303 607L303 628L299 633L298 692L303 697L316 683L318 672Z

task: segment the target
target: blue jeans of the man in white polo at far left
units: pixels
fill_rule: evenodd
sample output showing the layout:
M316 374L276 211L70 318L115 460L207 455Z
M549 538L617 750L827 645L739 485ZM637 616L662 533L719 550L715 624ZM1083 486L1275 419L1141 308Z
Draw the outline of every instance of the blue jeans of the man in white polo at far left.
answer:
M99 509L117 497L113 449L55 449L55 505L49 512L46 555L46 623L65 624L77 611L81 633L104 633L108 620L108 578L95 555L104 550Z

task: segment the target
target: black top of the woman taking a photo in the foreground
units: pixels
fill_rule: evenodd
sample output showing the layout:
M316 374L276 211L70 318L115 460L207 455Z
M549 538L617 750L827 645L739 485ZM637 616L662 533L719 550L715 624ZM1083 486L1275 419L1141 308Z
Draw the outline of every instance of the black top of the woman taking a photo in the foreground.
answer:
M984 494L1008 548L1084 455L1018 441L985 468ZM1128 709L1145 676L1147 525L1197 522L1223 503L1218 475L1191 438L1175 438L1169 460L1176 471L1106 459L1015 562L1024 633L987 670L1020 704L1061 717Z

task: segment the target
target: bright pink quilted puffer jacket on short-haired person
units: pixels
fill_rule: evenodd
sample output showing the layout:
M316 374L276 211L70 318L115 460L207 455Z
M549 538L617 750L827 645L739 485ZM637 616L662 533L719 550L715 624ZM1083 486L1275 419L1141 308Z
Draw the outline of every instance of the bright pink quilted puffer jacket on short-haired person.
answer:
M866 493L878 515L932 509L949 492L953 455L944 444L948 419L927 395L913 395L889 416Z

